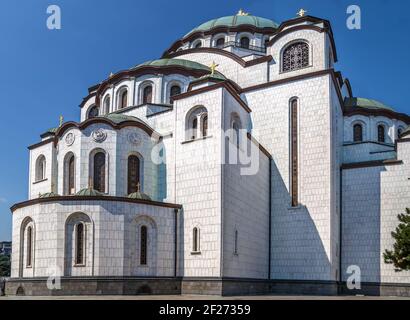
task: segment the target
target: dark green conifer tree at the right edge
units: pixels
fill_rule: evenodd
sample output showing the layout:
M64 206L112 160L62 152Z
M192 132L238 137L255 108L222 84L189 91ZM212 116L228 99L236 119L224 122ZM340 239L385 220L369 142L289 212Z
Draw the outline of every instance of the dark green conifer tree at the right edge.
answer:
M406 213L398 215L400 221L396 231L391 235L395 243L393 250L386 250L383 254L384 262L393 264L395 270L406 271L410 270L410 209L406 209Z

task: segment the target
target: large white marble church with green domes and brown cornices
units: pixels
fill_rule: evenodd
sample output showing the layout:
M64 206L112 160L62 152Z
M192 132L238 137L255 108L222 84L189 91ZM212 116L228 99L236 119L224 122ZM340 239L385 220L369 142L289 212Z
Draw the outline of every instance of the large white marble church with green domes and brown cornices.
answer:
M12 208L12 278L54 268L67 277L339 281L357 265L365 282L410 283L382 259L410 206L410 117L353 96L334 71L328 21L252 26L238 17L246 20L210 23L162 59L91 87L78 123L29 148L29 199ZM290 46L307 52L289 63ZM224 161L229 148L245 158L256 141L255 172Z

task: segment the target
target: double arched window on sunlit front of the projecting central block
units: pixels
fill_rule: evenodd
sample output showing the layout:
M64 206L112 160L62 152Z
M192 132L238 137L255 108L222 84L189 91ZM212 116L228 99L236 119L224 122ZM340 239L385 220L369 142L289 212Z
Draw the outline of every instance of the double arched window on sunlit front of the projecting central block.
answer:
M194 140L208 135L208 111L203 106L194 107L185 120L186 140Z

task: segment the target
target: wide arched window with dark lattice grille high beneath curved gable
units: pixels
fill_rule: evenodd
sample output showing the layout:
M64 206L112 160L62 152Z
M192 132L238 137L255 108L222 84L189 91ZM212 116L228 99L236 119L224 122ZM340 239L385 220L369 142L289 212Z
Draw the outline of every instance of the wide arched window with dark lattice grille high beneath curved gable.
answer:
M309 66L309 45L297 42L289 45L283 51L282 71L293 71Z

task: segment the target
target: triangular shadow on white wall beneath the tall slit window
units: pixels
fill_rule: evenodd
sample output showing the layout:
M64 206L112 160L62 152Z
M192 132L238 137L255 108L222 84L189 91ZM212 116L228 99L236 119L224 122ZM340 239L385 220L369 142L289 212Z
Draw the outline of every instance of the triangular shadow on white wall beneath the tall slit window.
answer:
M322 237L329 234L330 213L312 216L307 206L292 208L291 195L273 160L271 179L271 278L336 280L331 274L331 263L322 241ZM321 225L326 228L322 236L317 228Z

